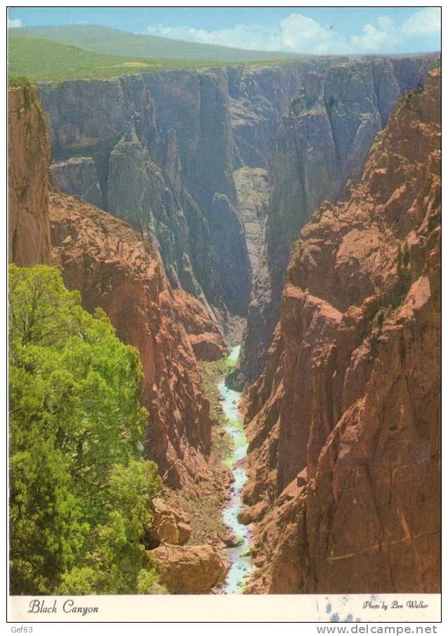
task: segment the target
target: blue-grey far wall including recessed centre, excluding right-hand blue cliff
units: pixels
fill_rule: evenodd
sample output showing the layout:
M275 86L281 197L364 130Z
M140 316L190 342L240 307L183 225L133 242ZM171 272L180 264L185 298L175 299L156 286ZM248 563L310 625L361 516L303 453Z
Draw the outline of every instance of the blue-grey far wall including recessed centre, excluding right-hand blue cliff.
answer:
M229 314L246 315L249 249L264 235L234 171L259 181L305 73L338 59L41 84L53 183L152 234L171 286L206 300L228 330Z

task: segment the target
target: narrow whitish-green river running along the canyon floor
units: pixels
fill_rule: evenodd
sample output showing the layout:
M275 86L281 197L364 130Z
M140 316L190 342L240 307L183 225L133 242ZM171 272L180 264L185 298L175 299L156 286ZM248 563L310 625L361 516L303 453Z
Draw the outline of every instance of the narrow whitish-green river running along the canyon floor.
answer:
M232 347L229 360L236 362L239 356L239 345ZM247 452L246 435L244 434L241 413L239 413L239 401L241 393L233 391L225 386L224 380L218 384L218 390L223 398L223 411L227 418L226 432L232 438L233 448L225 459L225 464L232 470L235 479L232 488L232 496L223 512L225 525L232 534L235 534L239 545L236 548L227 548L230 558L230 570L223 583L223 594L241 594L251 574L251 557L249 556L250 534L249 528L239 523L237 516L242 508L242 488L246 482L245 458Z

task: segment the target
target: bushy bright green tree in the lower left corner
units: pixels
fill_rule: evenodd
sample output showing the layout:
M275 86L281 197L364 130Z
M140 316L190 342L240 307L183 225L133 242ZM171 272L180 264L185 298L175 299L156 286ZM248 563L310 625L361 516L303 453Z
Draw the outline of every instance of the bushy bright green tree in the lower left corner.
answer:
M11 593L158 591L138 352L52 267L11 265L9 282Z

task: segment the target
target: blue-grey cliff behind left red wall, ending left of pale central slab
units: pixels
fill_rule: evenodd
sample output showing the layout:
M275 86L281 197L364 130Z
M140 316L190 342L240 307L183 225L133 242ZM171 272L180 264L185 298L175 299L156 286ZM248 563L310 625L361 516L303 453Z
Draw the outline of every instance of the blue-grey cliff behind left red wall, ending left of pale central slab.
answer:
M152 234L173 287L206 298L223 326L228 310L244 315L251 277L235 213L225 72L43 84L41 98L58 186L82 195L98 183L101 207ZM77 156L94 163L82 178ZM217 229L220 214L229 241Z

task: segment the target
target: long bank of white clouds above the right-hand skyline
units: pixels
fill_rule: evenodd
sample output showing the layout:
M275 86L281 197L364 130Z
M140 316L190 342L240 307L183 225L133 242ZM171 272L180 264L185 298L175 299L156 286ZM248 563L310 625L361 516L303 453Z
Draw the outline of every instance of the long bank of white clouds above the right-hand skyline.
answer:
M392 52L409 39L437 34L440 25L440 9L428 7L416 11L401 25L396 25L387 16L380 16L374 24L364 25L360 34L350 37L338 33L331 25L319 24L301 13L291 13L272 25L235 25L230 29L214 31L188 26L150 25L146 33L202 44L329 55Z

